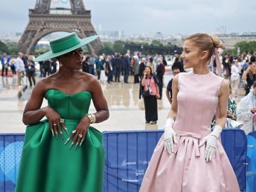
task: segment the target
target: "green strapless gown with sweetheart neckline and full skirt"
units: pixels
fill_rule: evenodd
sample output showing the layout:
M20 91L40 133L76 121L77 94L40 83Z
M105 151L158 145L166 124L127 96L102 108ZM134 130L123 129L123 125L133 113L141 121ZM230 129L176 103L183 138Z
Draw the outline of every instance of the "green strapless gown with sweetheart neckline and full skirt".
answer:
M65 119L72 132L87 114L90 92L67 95L60 90L48 90L48 105ZM101 192L104 171L102 133L90 127L82 146L69 150L64 141L53 137L47 120L29 125L23 144L16 192Z

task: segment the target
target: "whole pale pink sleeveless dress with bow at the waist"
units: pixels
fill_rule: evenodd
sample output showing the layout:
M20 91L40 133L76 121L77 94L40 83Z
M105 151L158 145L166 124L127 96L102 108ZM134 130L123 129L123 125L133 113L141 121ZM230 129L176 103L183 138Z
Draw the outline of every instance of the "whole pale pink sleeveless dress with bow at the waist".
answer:
M203 158L210 122L218 106L223 78L193 72L178 75L178 114L174 123L177 144L171 156L163 137L154 149L140 192L239 192L237 178L223 146L218 142L215 159Z

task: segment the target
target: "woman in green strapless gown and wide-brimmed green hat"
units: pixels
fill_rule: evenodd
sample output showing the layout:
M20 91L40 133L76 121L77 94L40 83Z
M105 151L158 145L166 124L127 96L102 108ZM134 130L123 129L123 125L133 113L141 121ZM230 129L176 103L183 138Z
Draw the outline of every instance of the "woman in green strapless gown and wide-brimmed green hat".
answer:
M57 58L60 69L36 84L23 112L28 127L16 192L102 191L102 134L90 124L108 119L109 110L97 78L80 71L80 47L96 38L70 33L50 41L51 51L36 58ZM41 108L43 97L48 107ZM94 114L88 114L91 99Z

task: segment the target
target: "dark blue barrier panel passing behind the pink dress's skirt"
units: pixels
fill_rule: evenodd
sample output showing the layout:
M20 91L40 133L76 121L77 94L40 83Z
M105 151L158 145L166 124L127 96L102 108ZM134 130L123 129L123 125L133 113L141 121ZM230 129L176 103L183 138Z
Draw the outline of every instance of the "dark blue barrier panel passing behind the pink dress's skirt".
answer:
M154 148L163 132L104 132L106 152L104 192L139 191ZM240 191L245 191L247 140L240 129L225 129L221 134L223 147L238 178Z

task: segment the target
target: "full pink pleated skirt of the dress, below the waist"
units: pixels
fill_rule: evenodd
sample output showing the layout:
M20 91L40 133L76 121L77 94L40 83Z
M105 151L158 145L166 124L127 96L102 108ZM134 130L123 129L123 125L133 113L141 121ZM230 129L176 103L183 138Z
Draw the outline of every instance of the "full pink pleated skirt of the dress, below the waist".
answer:
M215 159L203 158L199 139L177 136L174 154L164 150L163 137L154 149L140 192L239 192L238 180L218 142Z

